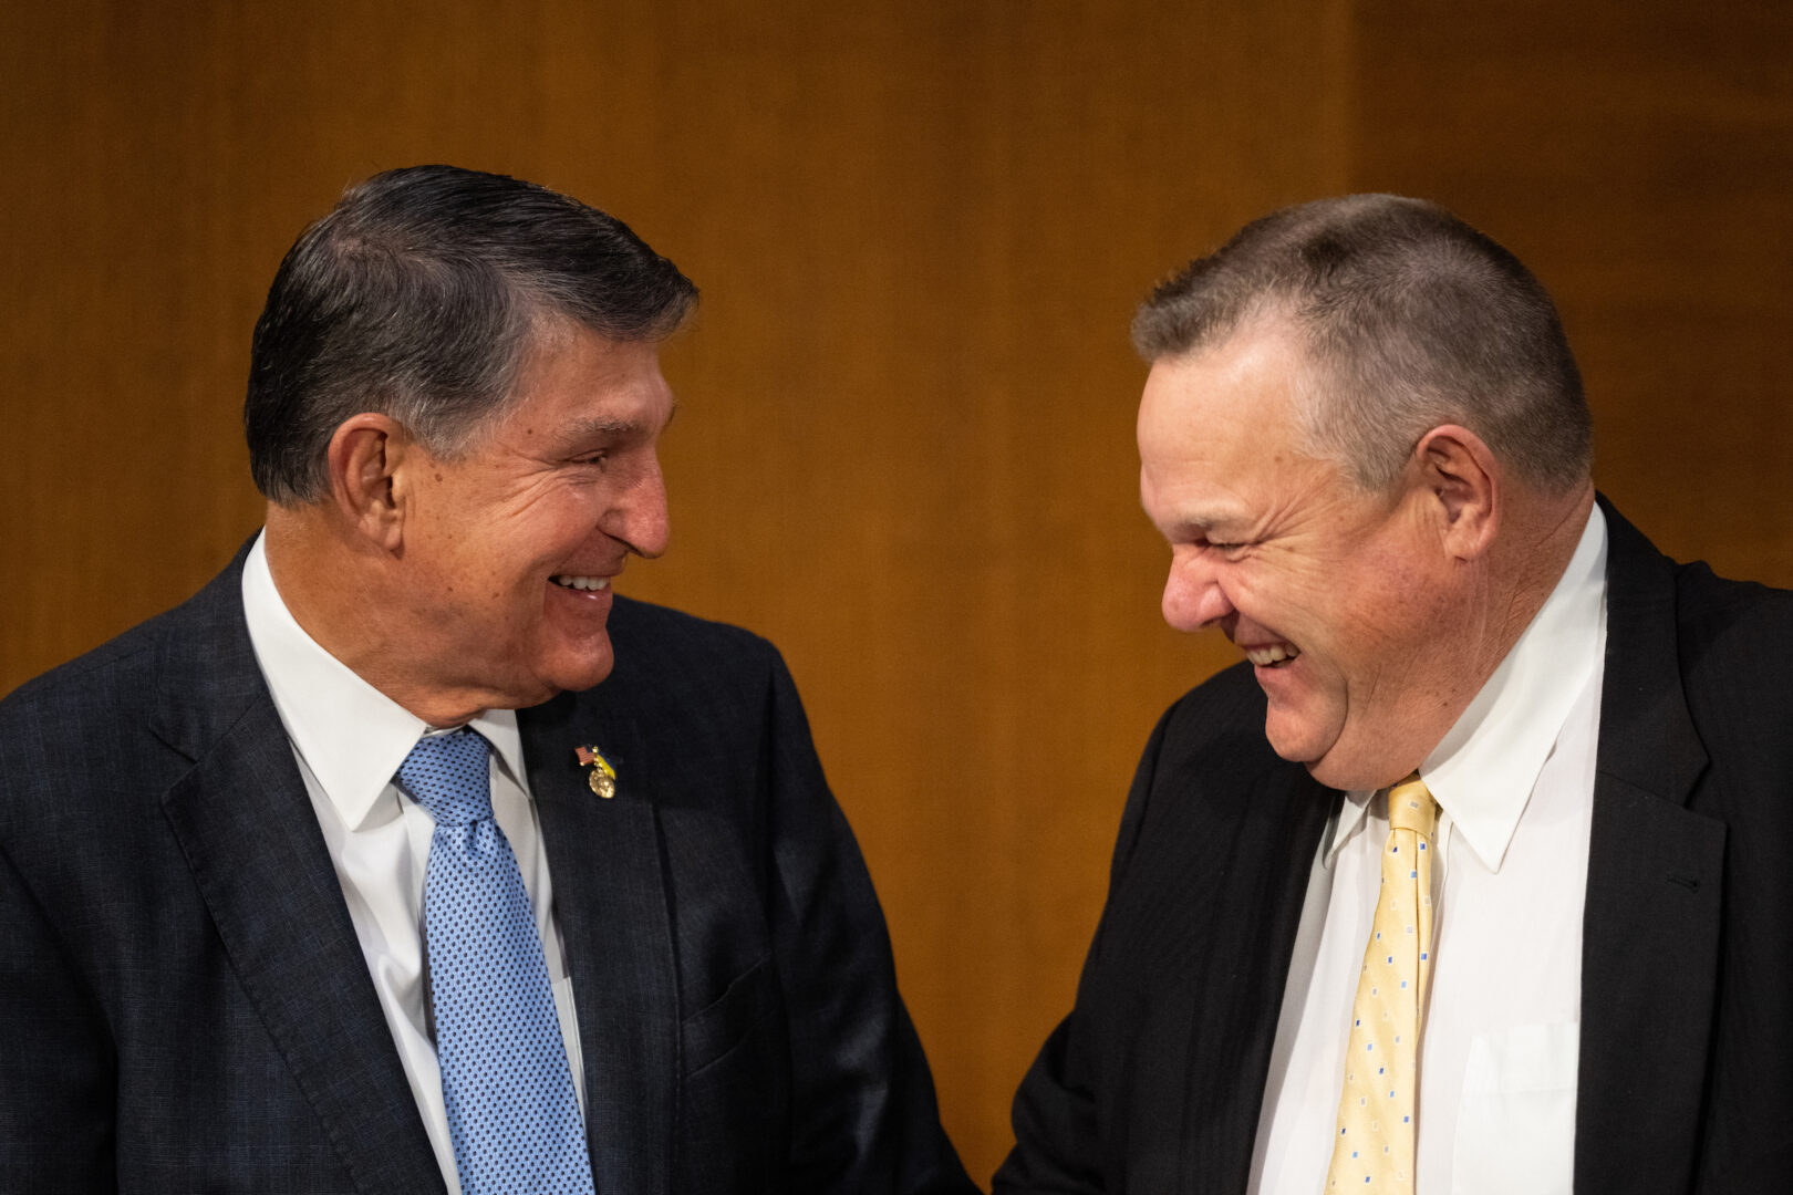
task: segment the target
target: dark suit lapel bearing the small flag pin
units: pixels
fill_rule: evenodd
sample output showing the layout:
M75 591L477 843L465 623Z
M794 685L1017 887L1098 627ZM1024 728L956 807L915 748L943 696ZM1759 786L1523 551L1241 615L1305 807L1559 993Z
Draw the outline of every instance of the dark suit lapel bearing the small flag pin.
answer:
M597 1190L665 1191L678 1071L678 984L662 874L656 774L633 718L563 693L518 713L529 787L554 874L585 1052L586 1136ZM574 747L617 765L597 797Z

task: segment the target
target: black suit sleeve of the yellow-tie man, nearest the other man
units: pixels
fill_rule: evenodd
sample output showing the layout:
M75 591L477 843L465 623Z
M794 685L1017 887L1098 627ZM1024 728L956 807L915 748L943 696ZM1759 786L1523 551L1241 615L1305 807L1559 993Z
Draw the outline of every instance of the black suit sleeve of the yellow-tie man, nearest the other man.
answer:
M1126 810L1121 813L1121 831L1115 840L1113 862L1108 871L1108 894L1126 874L1133 842L1146 819L1146 803L1164 745L1165 726L1176 706L1158 718L1139 769L1128 790ZM1015 1148L995 1175L997 1195L1099 1195L1110 1190L1113 1166L1103 1132L1103 1052L1101 1034L1094 1028L1090 1007L1096 1000L1094 975L1103 955L1103 937L1108 910L1096 926L1096 939L1083 962L1078 980L1078 998L1070 1014L1045 1039L1040 1055L1015 1093L1011 1123Z

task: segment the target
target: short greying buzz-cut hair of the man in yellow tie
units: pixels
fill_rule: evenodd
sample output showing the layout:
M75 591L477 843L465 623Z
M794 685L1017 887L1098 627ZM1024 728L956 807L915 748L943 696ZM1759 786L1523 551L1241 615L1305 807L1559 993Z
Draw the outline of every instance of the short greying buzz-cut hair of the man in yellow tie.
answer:
M1146 360L1278 324L1305 358L1307 444L1364 489L1393 484L1431 428L1476 432L1520 478L1587 480L1592 426L1549 294L1519 258L1443 208L1347 195L1246 224L1140 305Z

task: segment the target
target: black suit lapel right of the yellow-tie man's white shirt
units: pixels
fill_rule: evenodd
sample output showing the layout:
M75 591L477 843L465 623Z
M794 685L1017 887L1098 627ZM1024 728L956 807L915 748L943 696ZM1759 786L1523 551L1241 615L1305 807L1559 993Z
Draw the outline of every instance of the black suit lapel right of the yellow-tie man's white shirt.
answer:
M1607 672L1581 946L1576 1191L1678 1191L1700 1122L1725 826L1682 697L1673 564L1601 502ZM1641 1179L1646 1175L1646 1179Z

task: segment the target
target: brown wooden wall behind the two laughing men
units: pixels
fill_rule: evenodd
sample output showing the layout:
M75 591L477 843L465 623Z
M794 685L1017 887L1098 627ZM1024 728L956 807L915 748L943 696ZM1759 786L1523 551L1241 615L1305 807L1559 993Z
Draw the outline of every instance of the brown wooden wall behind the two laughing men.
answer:
M1230 659L1158 620L1131 305L1273 206L1440 199L1558 296L1607 493L1793 584L1789 72L1779 0L7 4L0 692L256 527L249 328L346 183L608 208L705 290L628 591L784 647L986 1177L1135 752Z

